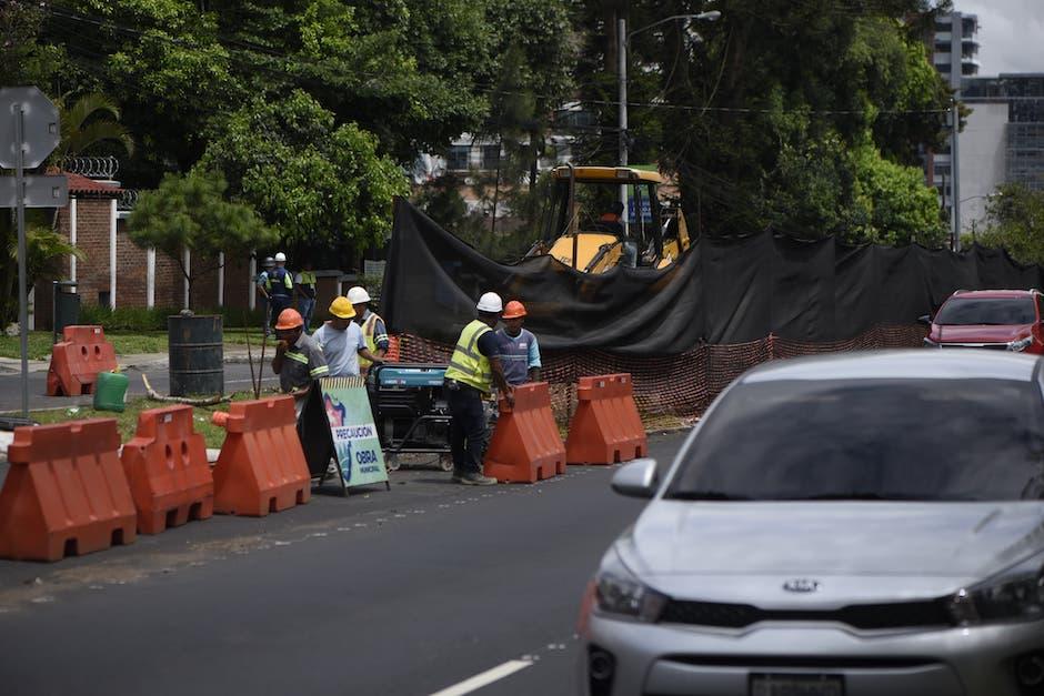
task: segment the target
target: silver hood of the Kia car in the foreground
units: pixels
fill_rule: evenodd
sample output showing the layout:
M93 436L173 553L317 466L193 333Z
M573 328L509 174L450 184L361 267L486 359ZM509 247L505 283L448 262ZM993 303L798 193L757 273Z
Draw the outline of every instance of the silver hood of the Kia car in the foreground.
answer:
M826 577L836 597L943 594L1042 548L1040 502L665 500L653 501L616 546L654 586L683 594L713 588L697 591L706 599L741 585L779 591L789 579Z

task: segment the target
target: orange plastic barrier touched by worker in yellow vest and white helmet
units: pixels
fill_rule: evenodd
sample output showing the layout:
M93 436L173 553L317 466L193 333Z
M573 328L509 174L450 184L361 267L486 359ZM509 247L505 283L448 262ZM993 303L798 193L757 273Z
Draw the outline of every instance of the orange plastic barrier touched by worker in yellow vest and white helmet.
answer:
M501 400L483 468L498 481L528 483L565 473L565 445L551 413L546 382L516 386L514 407Z

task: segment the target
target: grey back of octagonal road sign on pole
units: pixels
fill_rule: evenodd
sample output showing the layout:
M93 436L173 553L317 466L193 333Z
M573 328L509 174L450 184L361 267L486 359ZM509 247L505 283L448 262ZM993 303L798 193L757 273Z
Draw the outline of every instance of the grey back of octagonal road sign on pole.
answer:
M22 142L14 142L14 120L22 118ZM0 88L0 167L18 165L18 148L24 152L22 167L40 167L61 140L58 109L34 87Z

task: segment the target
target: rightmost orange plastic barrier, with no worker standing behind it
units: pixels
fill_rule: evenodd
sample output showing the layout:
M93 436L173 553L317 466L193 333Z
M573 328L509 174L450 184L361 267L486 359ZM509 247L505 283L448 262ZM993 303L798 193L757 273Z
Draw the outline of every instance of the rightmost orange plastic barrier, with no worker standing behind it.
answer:
M645 454L649 443L634 404L631 375L580 377L576 397L565 438L570 464L615 464Z

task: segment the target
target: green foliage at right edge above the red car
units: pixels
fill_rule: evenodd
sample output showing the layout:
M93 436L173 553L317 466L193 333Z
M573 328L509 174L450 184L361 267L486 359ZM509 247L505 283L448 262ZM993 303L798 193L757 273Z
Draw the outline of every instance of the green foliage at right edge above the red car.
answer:
M986 203L986 223L976 235L980 244L1006 249L1020 263L1044 265L1044 191L1002 184Z

